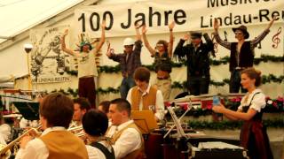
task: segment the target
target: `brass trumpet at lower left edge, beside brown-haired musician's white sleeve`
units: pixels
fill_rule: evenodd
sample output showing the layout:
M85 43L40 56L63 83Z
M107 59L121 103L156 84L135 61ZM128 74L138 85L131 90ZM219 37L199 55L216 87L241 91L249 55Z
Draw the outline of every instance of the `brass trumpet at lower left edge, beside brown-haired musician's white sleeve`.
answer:
M40 126L41 127L41 126ZM10 142L8 145L6 146L2 146L2 148L0 149L0 157L1 158L9 158L9 156L11 155L11 149L14 148L14 146L16 144L18 144L20 142L20 140L29 135L33 135L34 137L37 137L40 135L40 133L37 131L40 127L38 128L29 128L27 132L23 133L22 135L20 135L17 139L12 140L12 142Z

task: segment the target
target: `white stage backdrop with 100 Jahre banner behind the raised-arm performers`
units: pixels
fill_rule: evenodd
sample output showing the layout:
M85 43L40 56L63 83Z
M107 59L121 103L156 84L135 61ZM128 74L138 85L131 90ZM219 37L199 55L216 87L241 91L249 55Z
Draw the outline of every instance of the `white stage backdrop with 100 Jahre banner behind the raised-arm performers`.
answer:
M260 45L255 49L256 57L261 55L272 55L276 57L283 56L283 6L284 1L227 1L221 0L191 0L191 1L146 1L132 4L98 4L86 6L75 11L70 22L70 31L67 39L70 38L68 48L75 49L78 42L78 34L85 32L92 38L99 38L101 29L99 24L102 19L106 19L106 41L111 43L115 53L123 51L122 42L125 37L135 38L133 23L145 23L147 26L147 37L149 42L154 47L155 42L160 39L169 40L169 28L167 25L171 21L176 21L174 28L175 42L177 46L179 39L189 31L201 31L211 34L213 32L212 21L217 18L221 27L219 33L221 37L228 42L235 42L232 27L241 25L248 26L250 34L248 40L254 39L261 34L272 19L272 15L277 17L273 24L270 33L264 38ZM129 22L130 21L130 22ZM60 22L59 22L60 23ZM131 24L131 25L129 25ZM43 33L40 36L43 36ZM38 35L39 36L39 35ZM215 42L215 41L214 41ZM67 40L68 45L68 40ZM108 59L105 55L106 44L102 47L103 56L100 59L100 65L116 65L117 63ZM217 57L219 59L229 56L229 50L217 45ZM72 61L72 60L71 60ZM148 50L143 47L141 52L142 64L152 64L153 58L150 57ZM274 74L276 77L283 75L283 62L269 62L256 64L256 69L262 71L264 75ZM182 82L186 79L185 66L174 68L171 73L172 82ZM229 79L230 72L228 64L211 65L211 79L214 81L223 81ZM151 79L155 79L152 72ZM115 79L115 80L114 80ZM117 88L122 81L121 73L106 73L99 74L98 85L106 89L107 87ZM77 78L72 76L70 82L60 82L52 84L40 84L38 89L51 91L54 89L65 89L68 87L77 88ZM283 95L283 83L265 84L261 87L265 94L276 97ZM183 90L173 90L171 98ZM224 87L209 87L210 94L227 93L228 85ZM113 94L111 94L113 95ZM111 95L99 95L99 101L104 99L113 99ZM115 94L118 97L119 94Z

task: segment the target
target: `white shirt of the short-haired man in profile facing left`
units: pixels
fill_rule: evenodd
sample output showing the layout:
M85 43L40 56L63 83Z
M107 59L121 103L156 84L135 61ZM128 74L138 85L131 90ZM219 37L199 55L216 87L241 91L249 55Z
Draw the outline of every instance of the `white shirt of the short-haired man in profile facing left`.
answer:
M133 120L118 126L112 125L109 127L109 131L106 133L106 137L113 137L114 133L122 130L131 123L133 123ZM113 145L115 158L122 158L134 150L141 148L141 146L142 143L140 133L138 133L138 131L134 128L128 128L122 132L120 138L116 140Z

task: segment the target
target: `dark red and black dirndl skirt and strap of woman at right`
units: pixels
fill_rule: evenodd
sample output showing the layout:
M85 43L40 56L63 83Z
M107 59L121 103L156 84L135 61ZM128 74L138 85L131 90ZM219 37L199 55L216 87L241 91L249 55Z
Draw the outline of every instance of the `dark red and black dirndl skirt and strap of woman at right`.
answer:
M257 92L255 95L258 95ZM243 112L248 112L252 100L247 106L242 107ZM241 127L241 147L248 149L250 159L272 159L272 150L270 148L266 127L262 122L263 110L256 112L256 115L248 121L244 121Z

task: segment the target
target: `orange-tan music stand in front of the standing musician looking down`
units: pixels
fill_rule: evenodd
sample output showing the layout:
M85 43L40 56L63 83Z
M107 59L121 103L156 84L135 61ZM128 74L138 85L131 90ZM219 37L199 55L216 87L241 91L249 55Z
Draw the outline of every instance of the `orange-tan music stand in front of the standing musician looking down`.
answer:
M154 113L151 110L132 110L131 118L142 134L151 133L154 129L158 128Z

